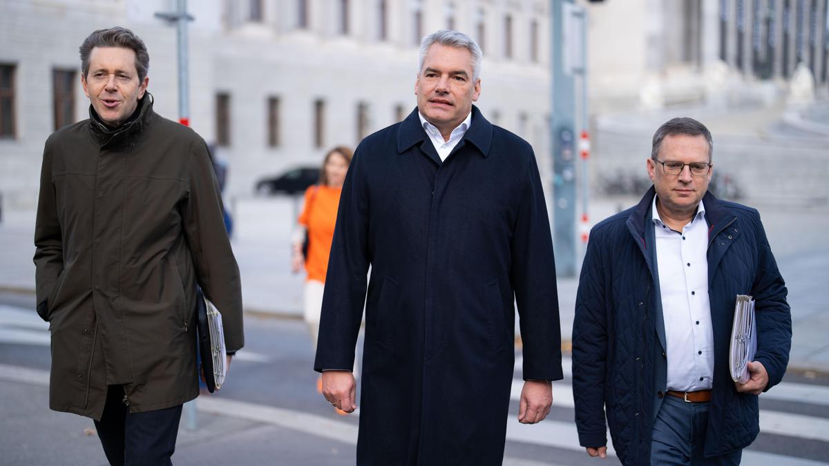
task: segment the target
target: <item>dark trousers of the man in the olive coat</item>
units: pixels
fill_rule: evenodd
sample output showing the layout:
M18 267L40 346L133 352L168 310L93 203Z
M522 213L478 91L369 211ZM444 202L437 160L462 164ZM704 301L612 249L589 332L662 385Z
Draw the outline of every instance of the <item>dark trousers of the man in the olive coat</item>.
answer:
M108 387L106 405L95 429L104 454L113 466L171 464L176 451L182 405L163 410L130 413L124 405L124 387Z

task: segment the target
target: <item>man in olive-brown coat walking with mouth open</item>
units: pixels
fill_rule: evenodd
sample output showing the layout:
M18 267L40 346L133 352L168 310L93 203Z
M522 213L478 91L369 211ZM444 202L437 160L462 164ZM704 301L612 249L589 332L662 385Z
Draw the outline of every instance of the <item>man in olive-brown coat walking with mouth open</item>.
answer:
M196 285L233 353L239 268L204 140L153 112L143 41L99 30L80 58L90 119L46 141L35 227L49 405L94 419L112 464L169 464L182 404L199 393Z

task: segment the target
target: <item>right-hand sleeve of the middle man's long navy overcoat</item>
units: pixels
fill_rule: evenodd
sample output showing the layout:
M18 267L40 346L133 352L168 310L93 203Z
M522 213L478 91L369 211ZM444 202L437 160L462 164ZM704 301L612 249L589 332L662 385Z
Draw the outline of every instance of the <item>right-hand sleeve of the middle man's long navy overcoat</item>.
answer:
M530 148L521 206L511 240L511 281L523 342L525 380L554 381L561 370L561 326L550 219Z

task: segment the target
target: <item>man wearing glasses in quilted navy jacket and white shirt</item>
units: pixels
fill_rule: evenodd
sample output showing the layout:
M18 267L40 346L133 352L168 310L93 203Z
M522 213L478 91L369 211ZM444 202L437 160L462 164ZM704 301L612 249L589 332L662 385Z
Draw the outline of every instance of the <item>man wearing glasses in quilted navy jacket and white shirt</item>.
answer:
M788 364L786 286L758 211L708 190L713 141L671 119L653 135L642 201L590 233L573 328L579 443L623 464L739 464L759 433L758 395ZM755 300L751 379L732 381L737 294ZM607 424L605 424L605 416Z

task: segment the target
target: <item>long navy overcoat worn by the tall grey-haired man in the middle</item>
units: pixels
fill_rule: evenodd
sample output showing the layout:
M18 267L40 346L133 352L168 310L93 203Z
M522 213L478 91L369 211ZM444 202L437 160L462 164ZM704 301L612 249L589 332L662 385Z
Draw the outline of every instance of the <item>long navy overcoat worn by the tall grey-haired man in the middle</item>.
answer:
M443 163L417 110L365 138L342 188L317 371L351 370L364 299L357 464L501 464L513 299L524 376L562 378L550 224L530 145L474 107Z

